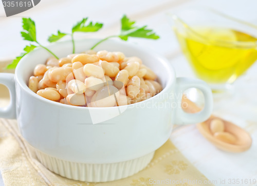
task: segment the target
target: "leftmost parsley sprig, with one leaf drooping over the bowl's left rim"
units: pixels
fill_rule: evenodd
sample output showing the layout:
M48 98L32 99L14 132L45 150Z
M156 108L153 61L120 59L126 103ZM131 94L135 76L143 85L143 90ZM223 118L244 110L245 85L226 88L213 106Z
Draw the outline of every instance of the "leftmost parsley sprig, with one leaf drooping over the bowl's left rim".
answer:
M24 55L26 55L27 53L31 52L34 48L36 47L42 47L44 49L46 49L48 52L50 52L54 57L56 57L58 59L58 57L52 52L50 51L48 48L44 47L43 45L41 45L38 40L36 40L36 30L35 30L35 22L33 20L31 20L31 18L22 18L22 23L23 23L23 31L21 32L22 37L24 40L33 42L38 44L38 46L36 45L29 45L26 46L23 50L24 52L21 53L18 57L16 57L11 64L9 64L6 68L7 69L13 69L17 66L17 64L19 63L19 61L24 57Z

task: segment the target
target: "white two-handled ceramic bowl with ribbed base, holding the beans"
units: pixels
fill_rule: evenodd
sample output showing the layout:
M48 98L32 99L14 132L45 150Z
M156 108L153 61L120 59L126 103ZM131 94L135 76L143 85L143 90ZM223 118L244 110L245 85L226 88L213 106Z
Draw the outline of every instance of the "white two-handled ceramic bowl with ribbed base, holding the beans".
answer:
M89 49L97 41L76 41L76 52ZM49 48L59 57L72 51L70 41ZM176 79L173 68L160 55L114 40L96 48L103 49L141 58L155 71L163 90L148 100L119 107L88 108L47 100L27 86L34 67L50 57L42 48L26 55L17 65L15 75L0 74L0 83L11 92L11 104L0 109L0 117L16 117L22 136L34 147L39 160L51 171L68 178L110 181L135 174L168 140L173 123L201 122L211 114L212 96L207 84ZM205 96L206 106L197 114L186 114L180 106L182 92L190 87L199 88Z

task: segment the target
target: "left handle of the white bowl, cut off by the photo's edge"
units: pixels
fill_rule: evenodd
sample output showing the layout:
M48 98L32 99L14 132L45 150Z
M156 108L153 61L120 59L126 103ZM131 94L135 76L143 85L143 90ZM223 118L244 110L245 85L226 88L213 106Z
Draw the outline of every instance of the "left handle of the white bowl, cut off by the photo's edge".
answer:
M6 107L0 107L0 118L15 119L15 82L13 73L0 73L0 84L7 86L10 93L10 104Z

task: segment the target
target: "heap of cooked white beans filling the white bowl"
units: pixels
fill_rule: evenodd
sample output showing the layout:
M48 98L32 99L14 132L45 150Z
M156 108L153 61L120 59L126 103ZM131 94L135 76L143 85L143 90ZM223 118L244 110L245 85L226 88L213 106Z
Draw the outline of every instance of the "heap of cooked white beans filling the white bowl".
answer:
M157 76L137 57L122 52L87 50L36 65L28 86L63 104L110 107L137 103L158 94Z

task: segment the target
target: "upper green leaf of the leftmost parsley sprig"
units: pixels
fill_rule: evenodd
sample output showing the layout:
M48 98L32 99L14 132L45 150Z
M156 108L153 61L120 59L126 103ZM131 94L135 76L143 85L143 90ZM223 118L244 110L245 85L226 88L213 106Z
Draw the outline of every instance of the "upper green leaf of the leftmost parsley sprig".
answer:
M23 20L23 29L21 32L24 40L34 41L36 42L36 32L35 32L35 23L31 20L31 18L22 18Z

